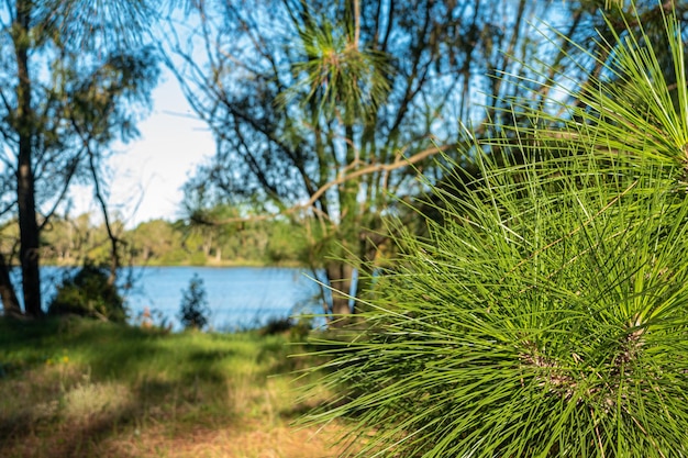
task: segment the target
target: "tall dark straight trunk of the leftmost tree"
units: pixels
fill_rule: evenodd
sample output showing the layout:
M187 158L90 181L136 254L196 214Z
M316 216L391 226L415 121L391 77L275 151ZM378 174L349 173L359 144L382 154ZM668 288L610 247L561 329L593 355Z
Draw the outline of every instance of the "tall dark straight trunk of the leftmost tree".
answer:
M16 131L19 133L19 160L16 167L16 203L19 208L20 262L22 290L26 315L38 317L41 310L41 277L38 271L38 223L34 174L32 167L34 116L31 107L31 77L29 74L30 18L33 3L16 0L16 20L13 41L16 58Z

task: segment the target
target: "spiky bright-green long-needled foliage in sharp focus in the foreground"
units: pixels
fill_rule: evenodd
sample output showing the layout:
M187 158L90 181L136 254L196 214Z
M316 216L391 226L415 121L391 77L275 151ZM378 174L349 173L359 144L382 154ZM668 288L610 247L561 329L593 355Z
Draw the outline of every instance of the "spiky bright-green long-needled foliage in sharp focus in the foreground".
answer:
M308 420L351 420L352 456L688 456L687 81L665 25L676 85L642 30L617 35L570 118L476 143L513 154L434 189L442 222L399 238L365 331L321 343L340 395Z

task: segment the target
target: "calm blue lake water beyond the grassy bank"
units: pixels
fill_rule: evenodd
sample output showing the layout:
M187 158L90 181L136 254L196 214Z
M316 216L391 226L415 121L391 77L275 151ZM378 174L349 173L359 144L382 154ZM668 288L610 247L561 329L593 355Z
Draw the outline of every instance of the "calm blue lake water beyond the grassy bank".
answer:
M156 322L167 320L180 328L177 314L182 290L198 275L203 281L210 325L217 331L256 327L271 317L286 317L299 312L319 313L313 309L318 284L306 269L281 267L135 267L132 288L123 291L133 319L144 309L154 313ZM44 302L55 292L63 268L43 267ZM309 277L307 277L309 276ZM310 308L309 308L310 304Z

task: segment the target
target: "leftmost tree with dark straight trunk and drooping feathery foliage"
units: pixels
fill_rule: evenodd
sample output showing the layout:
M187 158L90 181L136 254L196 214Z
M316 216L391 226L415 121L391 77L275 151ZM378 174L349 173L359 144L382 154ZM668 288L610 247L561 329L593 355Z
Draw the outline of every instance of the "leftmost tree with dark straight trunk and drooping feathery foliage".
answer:
M116 46L121 13L142 2L16 0L4 3L0 62L3 139L2 214L19 221L19 264L25 314L42 315L40 233L77 177L100 183L98 167L114 139L135 135L138 112L157 78L149 48ZM56 13L59 11L59 13ZM127 16L127 30L140 25ZM85 21L89 22L87 24ZM8 185L13 183L13 185ZM100 191L97 188L97 194ZM9 271L12 259L2 257ZM1 272L0 272L1 273ZM9 276L0 275L5 312L19 313Z

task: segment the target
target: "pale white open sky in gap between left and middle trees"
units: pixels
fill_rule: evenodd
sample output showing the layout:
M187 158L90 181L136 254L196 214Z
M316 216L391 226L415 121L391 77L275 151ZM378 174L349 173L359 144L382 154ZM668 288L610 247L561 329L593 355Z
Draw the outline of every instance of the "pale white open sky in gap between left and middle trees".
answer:
M153 91L153 109L138 123L141 136L114 146L109 160L109 205L129 228L137 224L180 216L181 186L196 166L214 153L214 141L206 124L193 115L179 86L167 70ZM73 190L70 215L99 210L90 188Z

